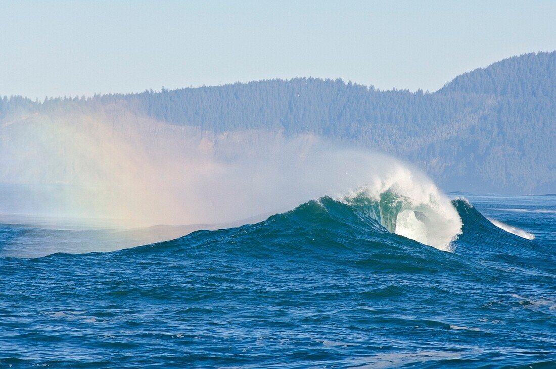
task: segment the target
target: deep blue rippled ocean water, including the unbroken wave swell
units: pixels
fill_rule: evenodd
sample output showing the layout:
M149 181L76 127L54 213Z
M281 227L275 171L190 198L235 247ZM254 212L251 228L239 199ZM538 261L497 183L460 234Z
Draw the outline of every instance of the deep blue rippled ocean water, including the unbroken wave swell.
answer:
M87 254L0 225L0 368L556 367L556 196L463 196L453 252L330 198Z

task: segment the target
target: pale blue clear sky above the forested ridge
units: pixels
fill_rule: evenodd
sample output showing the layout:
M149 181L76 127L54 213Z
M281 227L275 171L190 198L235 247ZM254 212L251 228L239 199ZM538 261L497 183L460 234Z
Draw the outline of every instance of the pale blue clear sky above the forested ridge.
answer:
M0 95L342 78L431 92L556 49L556 1L0 1Z

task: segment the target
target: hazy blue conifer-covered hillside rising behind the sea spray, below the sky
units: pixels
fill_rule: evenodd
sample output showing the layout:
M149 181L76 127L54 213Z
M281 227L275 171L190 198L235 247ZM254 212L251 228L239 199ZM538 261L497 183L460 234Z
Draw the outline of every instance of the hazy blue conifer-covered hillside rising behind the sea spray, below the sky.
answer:
M415 163L445 190L556 192L556 52L462 74L434 93L295 78L92 98L3 99L0 114L121 105L217 132L312 132Z

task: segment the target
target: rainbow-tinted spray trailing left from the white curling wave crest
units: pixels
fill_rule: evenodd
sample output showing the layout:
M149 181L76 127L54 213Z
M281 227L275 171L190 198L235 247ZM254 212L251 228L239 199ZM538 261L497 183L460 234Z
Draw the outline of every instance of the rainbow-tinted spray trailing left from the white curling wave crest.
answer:
M445 249L461 228L418 171L311 134L215 134L114 109L21 114L4 119L0 139L0 183L39 189L28 190L27 207L46 216L216 224L261 220L324 195L363 195L381 204L376 216L391 232L425 244ZM396 194L388 204L386 192Z

